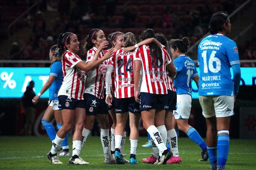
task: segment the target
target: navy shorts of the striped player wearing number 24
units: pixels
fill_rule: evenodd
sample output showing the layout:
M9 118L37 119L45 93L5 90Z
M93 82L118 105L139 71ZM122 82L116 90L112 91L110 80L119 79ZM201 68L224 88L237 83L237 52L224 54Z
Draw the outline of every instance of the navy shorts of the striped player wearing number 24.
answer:
M134 97L115 99L116 113L131 112L134 114L139 112L139 103L135 101Z

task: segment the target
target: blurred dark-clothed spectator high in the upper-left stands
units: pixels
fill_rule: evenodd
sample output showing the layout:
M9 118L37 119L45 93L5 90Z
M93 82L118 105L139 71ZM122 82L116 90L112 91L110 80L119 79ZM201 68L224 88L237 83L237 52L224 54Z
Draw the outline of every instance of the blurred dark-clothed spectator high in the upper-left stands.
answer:
M41 11L36 12L36 19L33 27L33 33L36 36L36 39L39 39L40 37L43 37L45 32L45 19L43 16L43 13Z

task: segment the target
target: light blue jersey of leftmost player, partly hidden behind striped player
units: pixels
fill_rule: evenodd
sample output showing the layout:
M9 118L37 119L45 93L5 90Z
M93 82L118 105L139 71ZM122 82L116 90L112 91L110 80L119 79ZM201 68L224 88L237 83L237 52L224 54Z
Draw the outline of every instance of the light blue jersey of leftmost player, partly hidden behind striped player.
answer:
M61 61L56 61L51 65L50 76L55 76L56 78L49 87L49 99L58 100L58 92L63 81Z

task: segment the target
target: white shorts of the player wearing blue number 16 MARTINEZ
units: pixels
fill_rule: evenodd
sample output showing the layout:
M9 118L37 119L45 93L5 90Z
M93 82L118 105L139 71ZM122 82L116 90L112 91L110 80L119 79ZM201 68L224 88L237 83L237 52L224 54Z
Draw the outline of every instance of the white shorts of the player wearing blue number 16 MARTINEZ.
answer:
M205 118L223 118L234 115L234 96L199 96Z

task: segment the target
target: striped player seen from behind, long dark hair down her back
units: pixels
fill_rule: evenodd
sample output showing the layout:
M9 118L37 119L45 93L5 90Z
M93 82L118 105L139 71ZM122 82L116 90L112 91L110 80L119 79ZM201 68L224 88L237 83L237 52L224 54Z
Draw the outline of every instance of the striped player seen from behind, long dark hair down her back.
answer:
M140 39L154 37L154 31L148 29L143 31ZM134 90L135 100L140 103L141 116L144 128L148 131L151 138L160 151L158 164L166 164L167 160L173 156L163 142L161 134L167 138L164 126L165 107L167 106L167 75L165 69L171 71L172 77L176 70L170 64L170 57L166 50L155 44L140 46L135 50L134 58ZM141 83L139 84L139 79ZM155 127L155 122L161 124L161 132Z

